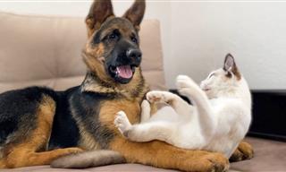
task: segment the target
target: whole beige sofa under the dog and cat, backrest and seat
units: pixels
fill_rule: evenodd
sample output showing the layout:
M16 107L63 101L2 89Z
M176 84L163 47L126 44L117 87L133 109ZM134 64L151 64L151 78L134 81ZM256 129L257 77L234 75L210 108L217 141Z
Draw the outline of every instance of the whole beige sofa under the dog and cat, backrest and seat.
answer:
M31 85L45 85L55 90L65 90L79 85L86 72L80 57L86 35L83 18L0 13L0 92ZM166 87L159 22L144 21L140 36L144 76L152 89L164 90ZM254 145L256 157L232 163L233 170L286 171L284 143L253 138L247 140ZM7 171L70 170L43 166ZM72 171L168 170L128 164Z

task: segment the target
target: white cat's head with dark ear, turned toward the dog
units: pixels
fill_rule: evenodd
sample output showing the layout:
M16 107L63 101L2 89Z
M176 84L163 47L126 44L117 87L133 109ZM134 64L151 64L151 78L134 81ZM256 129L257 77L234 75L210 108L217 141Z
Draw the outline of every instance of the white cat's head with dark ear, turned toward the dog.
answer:
M223 68L209 73L206 80L201 82L200 87L206 92L207 97L212 99L231 91L239 85L240 80L240 71L233 56L228 54L225 56Z

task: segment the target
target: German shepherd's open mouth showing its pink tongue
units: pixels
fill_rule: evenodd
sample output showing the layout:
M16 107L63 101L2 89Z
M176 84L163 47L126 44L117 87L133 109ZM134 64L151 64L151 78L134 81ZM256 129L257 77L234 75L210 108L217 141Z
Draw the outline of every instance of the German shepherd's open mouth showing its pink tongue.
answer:
M128 83L135 72L135 65L110 66L109 72L116 82Z

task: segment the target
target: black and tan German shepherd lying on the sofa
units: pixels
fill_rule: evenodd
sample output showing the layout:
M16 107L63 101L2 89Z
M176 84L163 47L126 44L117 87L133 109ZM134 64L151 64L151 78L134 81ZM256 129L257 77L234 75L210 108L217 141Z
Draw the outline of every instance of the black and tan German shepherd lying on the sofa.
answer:
M114 116L121 110L132 124L139 122L148 90L139 67L144 12L145 2L137 0L115 17L110 0L96 0L86 18L88 42L82 56L88 73L80 86L65 91L30 87L0 95L0 168L49 165L83 150L107 159L99 164L126 161L184 171L229 167L220 153L181 150L158 141L130 142L115 128Z

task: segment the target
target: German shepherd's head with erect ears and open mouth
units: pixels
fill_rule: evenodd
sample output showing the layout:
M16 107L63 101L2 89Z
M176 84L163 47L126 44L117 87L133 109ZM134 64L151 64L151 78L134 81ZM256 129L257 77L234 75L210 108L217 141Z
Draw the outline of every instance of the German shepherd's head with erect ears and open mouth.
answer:
M86 18L88 43L83 57L101 81L124 84L139 73L139 24L144 12L142 0L136 0L122 17L114 16L111 0L96 0L90 7Z

